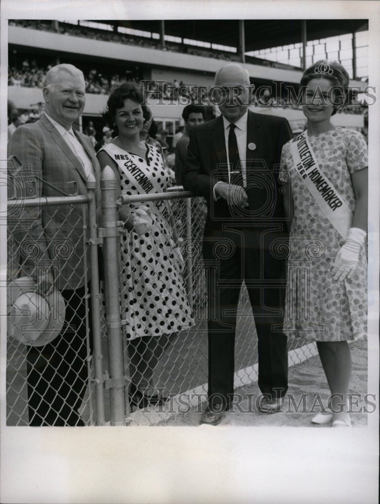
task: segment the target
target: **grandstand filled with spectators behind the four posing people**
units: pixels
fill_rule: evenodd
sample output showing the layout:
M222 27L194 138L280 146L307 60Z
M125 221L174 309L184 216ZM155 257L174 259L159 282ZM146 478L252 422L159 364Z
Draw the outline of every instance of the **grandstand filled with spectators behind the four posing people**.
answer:
M155 121L168 131L171 146L188 100L200 100L209 117L219 113L207 96L213 74L226 61L240 61L256 91L269 88L272 97L273 103L264 106L256 93L251 108L287 117L296 132L303 129L304 116L289 89L297 95L302 69L312 61L340 60L360 98L368 77L367 30L365 20L11 20L8 98L21 112L38 116L47 69L70 62L86 78L78 127L92 121L101 136L100 114L110 90L124 81L143 81ZM366 115L359 100L333 119L365 134Z

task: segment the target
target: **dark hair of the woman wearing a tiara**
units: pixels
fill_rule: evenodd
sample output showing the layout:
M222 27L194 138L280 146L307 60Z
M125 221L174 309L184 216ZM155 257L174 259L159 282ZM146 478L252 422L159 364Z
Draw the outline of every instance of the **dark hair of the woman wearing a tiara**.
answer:
M331 63L325 59L319 59L316 61L302 74L300 82L301 88L306 86L311 79L328 79L333 84L339 103L334 105L332 115L336 114L337 110L347 103L350 77L346 69L338 63L338 61L332 61Z

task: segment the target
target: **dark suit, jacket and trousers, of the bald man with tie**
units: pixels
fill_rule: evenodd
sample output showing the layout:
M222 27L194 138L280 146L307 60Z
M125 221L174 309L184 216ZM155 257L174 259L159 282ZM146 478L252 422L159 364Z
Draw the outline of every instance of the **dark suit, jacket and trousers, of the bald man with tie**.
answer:
M209 404L230 407L234 391L236 308L246 283L258 337L259 378L263 394L287 391L287 341L272 332L282 323L287 238L278 167L282 146L292 138L286 119L248 111L246 176L248 209L214 201L216 181L228 182L223 117L199 125L190 134L185 190L207 201L203 259L208 282Z

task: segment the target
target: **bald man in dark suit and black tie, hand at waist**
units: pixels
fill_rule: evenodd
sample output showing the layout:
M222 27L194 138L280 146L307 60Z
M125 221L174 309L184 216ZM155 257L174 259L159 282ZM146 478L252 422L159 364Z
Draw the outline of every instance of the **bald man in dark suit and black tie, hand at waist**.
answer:
M208 408L201 423L217 425L234 395L236 312L242 282L258 338L258 409L281 408L288 388L287 340L282 323L286 241L276 166L292 138L286 119L248 110L249 75L230 63L215 74L214 99L222 115L190 133L185 190L203 196L208 296Z

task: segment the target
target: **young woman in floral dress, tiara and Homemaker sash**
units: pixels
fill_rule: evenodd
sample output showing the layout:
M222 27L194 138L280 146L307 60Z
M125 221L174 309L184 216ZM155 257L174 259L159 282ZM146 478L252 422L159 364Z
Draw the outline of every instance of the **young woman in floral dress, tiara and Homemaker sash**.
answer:
M316 341L331 396L313 423L351 426L349 341L366 335L367 146L331 116L348 93L338 63L317 61L302 76L307 130L282 151L286 208L293 209L284 332Z

